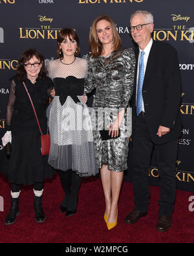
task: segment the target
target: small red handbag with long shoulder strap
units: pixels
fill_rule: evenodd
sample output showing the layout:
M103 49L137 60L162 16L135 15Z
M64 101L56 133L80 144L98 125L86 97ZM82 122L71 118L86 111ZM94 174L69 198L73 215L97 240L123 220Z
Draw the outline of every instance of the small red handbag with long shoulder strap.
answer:
M25 85L25 82L23 82L23 85L28 93L28 89L27 89L27 86ZM41 131L41 128L39 126L39 121L38 121L38 117L36 115L36 111L35 111L35 108L34 108L34 104L32 102L32 99L30 97L30 94L28 93L28 97L30 99L30 102L32 104L32 108L34 110L34 114L35 114L35 117L36 117L36 121L38 122L38 127L39 127L39 131L41 133L41 154L43 156L45 155L48 155L49 154L49 151L50 151L50 134L48 134L48 126L47 126L47 134L43 134L42 131Z

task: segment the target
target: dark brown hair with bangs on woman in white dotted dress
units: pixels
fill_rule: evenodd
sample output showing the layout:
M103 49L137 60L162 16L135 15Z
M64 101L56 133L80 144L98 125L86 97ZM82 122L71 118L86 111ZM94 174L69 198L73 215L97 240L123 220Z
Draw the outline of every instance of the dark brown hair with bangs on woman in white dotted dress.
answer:
M63 59L63 51L61 51L59 45L62 43L63 40L67 39L67 36L69 37L70 41L72 39L76 40L78 47L75 52L75 56L78 56L80 54L80 40L78 38L78 34L76 33L75 30L64 27L63 29L61 29L59 31L58 39L57 39L57 41L58 41L58 58L60 58L61 60Z

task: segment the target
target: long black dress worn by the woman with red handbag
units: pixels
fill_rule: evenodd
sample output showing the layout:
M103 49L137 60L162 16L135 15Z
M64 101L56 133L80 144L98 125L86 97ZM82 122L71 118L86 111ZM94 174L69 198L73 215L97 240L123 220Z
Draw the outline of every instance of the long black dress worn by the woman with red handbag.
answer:
M25 79L43 134L47 133L46 106L52 80ZM12 131L12 153L3 174L10 183L30 185L52 178L55 170L48 165L48 156L41 155L38 123L22 82L12 79L6 114L7 130Z

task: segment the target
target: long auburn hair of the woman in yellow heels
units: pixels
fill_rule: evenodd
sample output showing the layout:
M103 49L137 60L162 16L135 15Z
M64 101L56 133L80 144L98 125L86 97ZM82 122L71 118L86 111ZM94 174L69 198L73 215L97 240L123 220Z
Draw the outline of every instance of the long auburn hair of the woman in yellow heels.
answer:
M98 17L96 17L96 19L94 19L93 23L92 23L92 27L91 27L91 31L89 33L89 45L91 48L91 54L92 57L97 57L100 56L100 54L102 54L102 43L98 40L98 36L97 36L97 31L96 31L96 24L98 23L98 21L109 21L109 23L111 23L111 27L113 29L113 51L117 51L120 47L121 47L121 39L120 36L118 34L118 31L116 29L116 25L113 21L113 19L111 19L110 16L107 15L100 15Z

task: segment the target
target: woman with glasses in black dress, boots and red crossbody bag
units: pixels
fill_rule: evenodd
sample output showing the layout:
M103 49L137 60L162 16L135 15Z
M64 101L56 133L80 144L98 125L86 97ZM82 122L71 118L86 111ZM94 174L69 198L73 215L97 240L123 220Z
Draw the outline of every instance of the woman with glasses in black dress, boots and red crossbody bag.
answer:
M47 133L45 108L52 88L52 80L47 77L43 56L35 49L23 52L17 66L17 73L11 79L10 95L6 113L6 134L3 146L12 143L8 167L3 173L11 183L11 207L5 224L16 222L19 215L19 194L21 184L34 185L34 212L36 222L44 222L45 214L41 207L43 181L52 178L54 169L48 165L48 156L41 155L41 134L28 98L34 104L43 134Z

